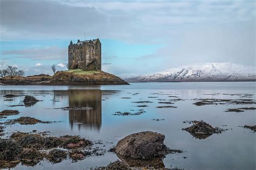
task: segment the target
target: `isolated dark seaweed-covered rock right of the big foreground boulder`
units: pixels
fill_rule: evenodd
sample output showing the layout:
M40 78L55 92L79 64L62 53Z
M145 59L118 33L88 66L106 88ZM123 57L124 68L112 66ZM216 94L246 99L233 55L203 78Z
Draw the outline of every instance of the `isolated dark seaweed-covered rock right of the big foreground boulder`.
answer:
M183 128L182 130L189 132L193 137L198 139L205 139L214 133L221 133L224 130L219 127L212 127L204 121L192 121L193 125Z

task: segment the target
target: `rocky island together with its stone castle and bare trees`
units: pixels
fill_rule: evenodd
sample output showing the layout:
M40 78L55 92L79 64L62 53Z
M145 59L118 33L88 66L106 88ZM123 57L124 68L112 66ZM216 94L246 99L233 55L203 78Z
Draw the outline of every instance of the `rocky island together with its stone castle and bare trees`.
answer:
M129 85L121 78L102 71L102 44L99 39L77 40L68 46L68 70L57 71L52 66L53 76L38 74L24 76L17 67L0 70L0 85ZM6 72L3 73L3 72Z

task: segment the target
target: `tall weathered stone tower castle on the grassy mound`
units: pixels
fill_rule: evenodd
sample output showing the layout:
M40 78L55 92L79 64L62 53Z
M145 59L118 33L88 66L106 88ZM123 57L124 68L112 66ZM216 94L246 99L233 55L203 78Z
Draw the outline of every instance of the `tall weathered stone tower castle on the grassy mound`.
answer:
M99 39L77 40L69 44L69 70L102 70L102 44Z

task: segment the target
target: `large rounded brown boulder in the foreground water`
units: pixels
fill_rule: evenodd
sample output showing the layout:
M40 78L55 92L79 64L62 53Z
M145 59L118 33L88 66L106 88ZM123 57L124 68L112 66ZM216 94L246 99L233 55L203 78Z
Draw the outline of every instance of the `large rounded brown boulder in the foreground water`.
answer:
M164 157L170 149L164 145L165 136L145 131L133 133L118 141L114 152L133 159L152 159Z

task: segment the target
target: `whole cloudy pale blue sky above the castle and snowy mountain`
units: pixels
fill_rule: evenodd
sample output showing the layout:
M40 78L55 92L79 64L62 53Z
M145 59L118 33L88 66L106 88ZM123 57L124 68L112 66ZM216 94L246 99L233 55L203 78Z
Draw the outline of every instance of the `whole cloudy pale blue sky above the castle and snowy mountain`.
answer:
M256 2L1 0L0 70L66 70L68 45L102 43L102 70L154 73L206 62L256 65Z

